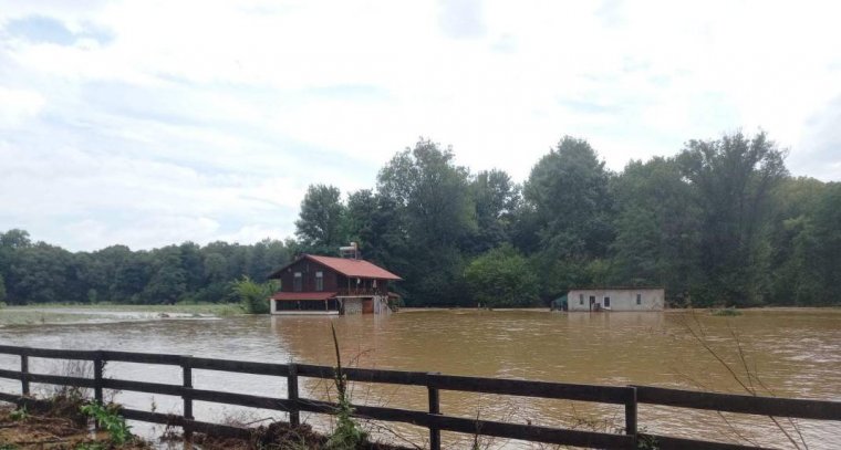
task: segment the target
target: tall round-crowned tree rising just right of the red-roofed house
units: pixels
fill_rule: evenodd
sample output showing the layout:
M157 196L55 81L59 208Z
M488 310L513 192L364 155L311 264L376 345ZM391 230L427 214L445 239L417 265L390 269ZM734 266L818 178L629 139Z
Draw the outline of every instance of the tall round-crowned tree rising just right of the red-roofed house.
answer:
M476 232L469 172L453 161L451 149L420 139L383 167L377 177L380 206L391 214L393 258L406 261L403 287L408 303L463 301L463 250ZM392 209L393 208L393 209Z

